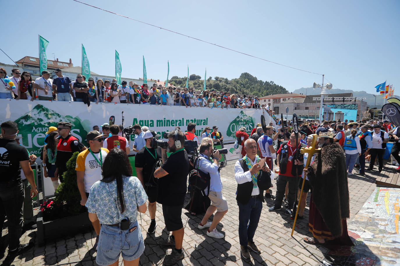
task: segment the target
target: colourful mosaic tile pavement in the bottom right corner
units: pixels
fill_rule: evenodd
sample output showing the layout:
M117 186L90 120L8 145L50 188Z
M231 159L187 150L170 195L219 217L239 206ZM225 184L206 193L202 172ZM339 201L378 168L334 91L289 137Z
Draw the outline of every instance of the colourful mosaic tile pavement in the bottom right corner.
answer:
M318 265L400 265L400 189L376 187L348 221L354 246L329 251Z

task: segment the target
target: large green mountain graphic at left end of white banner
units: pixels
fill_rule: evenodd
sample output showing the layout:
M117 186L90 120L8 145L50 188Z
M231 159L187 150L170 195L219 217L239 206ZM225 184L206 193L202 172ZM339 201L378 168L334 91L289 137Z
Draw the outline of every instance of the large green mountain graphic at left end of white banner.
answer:
M22 136L22 145L28 149L30 154L40 156L40 150L44 145L44 138L49 126L57 127L58 122L70 122L72 124L71 133L73 136L82 140L86 145L87 131L78 117L63 116L44 107L36 105L30 112L15 120L18 124L18 135Z

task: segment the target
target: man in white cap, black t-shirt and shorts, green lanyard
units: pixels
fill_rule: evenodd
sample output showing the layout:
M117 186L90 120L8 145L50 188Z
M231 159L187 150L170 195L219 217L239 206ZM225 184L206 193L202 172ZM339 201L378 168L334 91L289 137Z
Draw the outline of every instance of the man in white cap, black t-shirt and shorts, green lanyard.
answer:
M143 135L146 140L146 145L135 155L136 175L146 191L149 200L149 214L150 214L150 227L147 231L153 234L156 231L156 200L157 200L157 183L154 182L154 164L161 160L161 148L154 148L152 143L154 138L159 138L160 135L153 134L150 130L144 132Z

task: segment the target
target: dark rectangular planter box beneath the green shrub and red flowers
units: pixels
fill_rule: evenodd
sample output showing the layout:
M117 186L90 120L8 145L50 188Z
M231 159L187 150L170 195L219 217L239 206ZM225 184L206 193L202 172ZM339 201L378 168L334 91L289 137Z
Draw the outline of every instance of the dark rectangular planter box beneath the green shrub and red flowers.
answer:
M41 211L38 213L36 224L38 226L37 240L39 246L43 246L47 239L54 239L68 234L76 234L79 231L82 231L82 229L92 226L88 213L81 213L53 221L43 222L43 213Z

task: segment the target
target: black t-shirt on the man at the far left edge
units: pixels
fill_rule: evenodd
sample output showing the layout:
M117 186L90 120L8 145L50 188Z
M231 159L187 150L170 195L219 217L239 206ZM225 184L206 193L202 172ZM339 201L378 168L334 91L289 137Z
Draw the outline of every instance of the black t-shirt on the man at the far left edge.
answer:
M15 140L0 138L0 182L21 178L20 162L29 160L28 150Z

